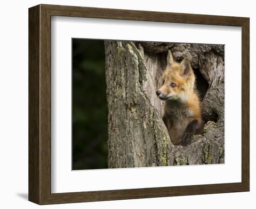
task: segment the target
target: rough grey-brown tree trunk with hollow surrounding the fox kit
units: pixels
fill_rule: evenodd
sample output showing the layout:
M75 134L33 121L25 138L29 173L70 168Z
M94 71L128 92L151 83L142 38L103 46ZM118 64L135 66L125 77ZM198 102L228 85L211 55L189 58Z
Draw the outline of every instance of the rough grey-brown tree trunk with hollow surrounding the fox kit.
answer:
M168 49L209 85L198 82L207 123L187 147L171 143L155 95ZM105 41L105 56L109 168L224 163L224 46Z

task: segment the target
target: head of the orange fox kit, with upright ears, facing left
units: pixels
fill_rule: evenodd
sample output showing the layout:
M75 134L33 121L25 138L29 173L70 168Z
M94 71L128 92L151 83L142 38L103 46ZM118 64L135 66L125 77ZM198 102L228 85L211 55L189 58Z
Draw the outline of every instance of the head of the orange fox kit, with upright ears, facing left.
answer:
M189 58L181 63L175 61L168 50L167 67L162 75L162 86L156 91L161 100L179 100L186 103L194 91L195 75L190 66Z

